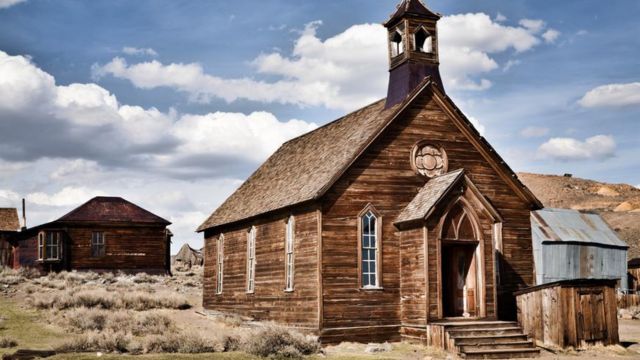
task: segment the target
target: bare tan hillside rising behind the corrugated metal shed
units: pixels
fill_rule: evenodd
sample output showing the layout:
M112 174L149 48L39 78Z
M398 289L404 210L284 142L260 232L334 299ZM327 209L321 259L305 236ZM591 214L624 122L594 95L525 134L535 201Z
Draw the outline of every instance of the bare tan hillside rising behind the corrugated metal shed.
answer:
M640 257L640 189L555 175L520 173L520 180L546 207L596 212L629 244L629 258Z

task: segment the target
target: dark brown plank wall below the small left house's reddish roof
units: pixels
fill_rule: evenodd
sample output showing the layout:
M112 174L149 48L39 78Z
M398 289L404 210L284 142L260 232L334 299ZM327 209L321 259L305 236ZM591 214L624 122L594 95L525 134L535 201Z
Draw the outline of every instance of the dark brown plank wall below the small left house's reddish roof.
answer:
M105 234L105 256L91 256L93 232ZM128 271L163 274L167 236L164 226L95 225L67 230L68 266L71 270Z

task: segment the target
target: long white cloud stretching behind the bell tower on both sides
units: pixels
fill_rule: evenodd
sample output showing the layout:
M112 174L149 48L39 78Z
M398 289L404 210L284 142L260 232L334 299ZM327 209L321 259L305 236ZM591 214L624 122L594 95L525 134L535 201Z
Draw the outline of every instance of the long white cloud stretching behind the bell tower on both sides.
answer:
M253 59L250 65L256 77L225 79L206 73L198 63L153 60L129 64L120 57L95 64L93 75L96 79L126 79L142 89L176 89L191 101L204 103L215 98L227 102L246 99L352 110L383 97L388 67L386 29L379 24L355 25L323 40L317 35L321 24L309 23L291 54L272 51ZM482 13L444 17L439 29L445 86L489 88L490 80L477 77L500 67L494 54L518 54L542 42L537 33L544 21L527 20L525 24L505 26Z

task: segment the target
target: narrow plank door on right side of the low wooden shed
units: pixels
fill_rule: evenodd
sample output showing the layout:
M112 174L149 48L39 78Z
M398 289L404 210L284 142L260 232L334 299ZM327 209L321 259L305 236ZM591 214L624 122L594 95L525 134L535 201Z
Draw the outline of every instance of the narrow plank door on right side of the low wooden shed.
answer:
M578 323L580 338L587 343L607 339L607 322L602 290L580 291Z

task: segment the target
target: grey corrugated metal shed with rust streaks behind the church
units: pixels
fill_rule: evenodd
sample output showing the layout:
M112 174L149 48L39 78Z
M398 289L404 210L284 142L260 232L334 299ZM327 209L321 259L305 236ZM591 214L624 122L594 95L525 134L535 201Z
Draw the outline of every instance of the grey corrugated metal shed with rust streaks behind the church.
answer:
M596 214L569 209L531 213L536 283L615 279L627 287L629 246Z

